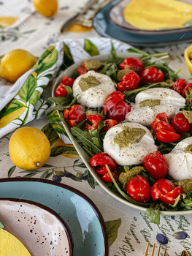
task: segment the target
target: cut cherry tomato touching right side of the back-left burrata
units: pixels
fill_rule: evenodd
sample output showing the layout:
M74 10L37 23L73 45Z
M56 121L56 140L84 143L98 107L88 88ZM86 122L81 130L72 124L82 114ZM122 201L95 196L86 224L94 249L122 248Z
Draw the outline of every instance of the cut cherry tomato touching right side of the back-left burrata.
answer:
M141 78L136 72L128 72L123 75L122 81L117 84L118 90L120 91L132 91L139 87Z

